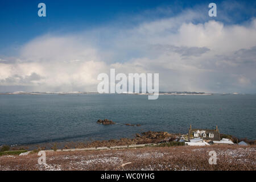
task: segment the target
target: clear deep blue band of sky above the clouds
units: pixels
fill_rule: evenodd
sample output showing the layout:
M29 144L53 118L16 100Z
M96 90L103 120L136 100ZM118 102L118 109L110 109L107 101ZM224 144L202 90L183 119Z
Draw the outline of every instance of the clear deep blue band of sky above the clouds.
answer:
M38 3L44 2L47 6L47 17L40 18L37 15ZM163 18L168 15L178 14L184 9L202 6L201 11L205 11L205 18L208 17L208 5L213 1L167 1L167 0L96 0L96 1L19 1L9 0L0 2L1 34L0 49L1 54L8 54L9 51L19 47L21 44L36 36L47 32L76 32L88 28L102 26L102 24L119 23L121 26L131 26L139 20L131 17L145 13L148 10L155 10L158 7L170 7L170 14L155 13L151 16L144 15L143 20ZM225 9L221 5L225 1L214 1L217 4L218 16L229 16L231 22L242 23L255 16L255 1L241 1L239 9ZM229 1L230 6L236 1ZM253 10L254 9L254 10ZM225 12L225 13L224 13ZM121 20L122 19L122 20ZM209 18L210 19L210 18Z

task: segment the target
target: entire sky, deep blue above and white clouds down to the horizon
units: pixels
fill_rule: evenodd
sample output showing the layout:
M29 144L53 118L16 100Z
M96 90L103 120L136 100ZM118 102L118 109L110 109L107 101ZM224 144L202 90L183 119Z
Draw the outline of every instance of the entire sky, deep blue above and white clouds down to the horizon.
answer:
M256 93L255 17L255 1L0 1L0 92L96 92L115 68L159 73L159 91Z

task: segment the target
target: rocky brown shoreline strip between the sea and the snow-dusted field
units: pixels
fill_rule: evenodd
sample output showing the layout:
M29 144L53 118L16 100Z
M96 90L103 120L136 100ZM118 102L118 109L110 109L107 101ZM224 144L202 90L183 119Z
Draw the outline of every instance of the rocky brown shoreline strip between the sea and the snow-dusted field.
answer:
M63 142L43 142L34 144L16 144L11 145L11 150L63 150L71 148L97 148L97 147L113 147L113 146L129 146L134 144L148 143L167 143L167 142L187 142L185 139L187 134L168 133L166 131L147 131L141 134L136 133L133 138L119 138L109 140L77 140ZM229 138L237 144L245 141L248 144L256 144L256 140L247 138L237 138L232 135L221 134L221 138ZM4 146L4 145L3 145Z

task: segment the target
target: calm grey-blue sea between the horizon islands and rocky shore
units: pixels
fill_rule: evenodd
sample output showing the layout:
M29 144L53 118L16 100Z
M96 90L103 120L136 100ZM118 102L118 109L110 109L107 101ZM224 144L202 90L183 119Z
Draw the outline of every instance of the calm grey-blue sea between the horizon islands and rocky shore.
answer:
M104 118L118 125L96 123ZM256 96L0 95L0 145L187 133L189 125L256 139Z

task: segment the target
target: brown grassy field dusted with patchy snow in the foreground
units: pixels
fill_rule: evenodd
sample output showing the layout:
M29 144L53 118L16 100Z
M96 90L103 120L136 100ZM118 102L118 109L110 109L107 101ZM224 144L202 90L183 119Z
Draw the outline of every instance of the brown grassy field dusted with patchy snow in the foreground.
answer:
M210 165L209 151L217 153ZM0 156L0 170L254 170L256 146L166 146L122 150L47 152Z

